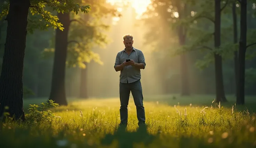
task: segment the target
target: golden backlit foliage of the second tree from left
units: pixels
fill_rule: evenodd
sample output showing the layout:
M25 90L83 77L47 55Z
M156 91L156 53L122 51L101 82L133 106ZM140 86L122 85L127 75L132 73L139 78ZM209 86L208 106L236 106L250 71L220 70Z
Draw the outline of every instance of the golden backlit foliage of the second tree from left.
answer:
M83 5L84 2L79 3ZM89 14L79 13L75 15L70 13L71 24L66 60L68 67L86 68L85 63L90 63L91 60L102 65L103 62L93 49L104 48L106 44L111 42L106 34L110 28L108 22L112 17L121 16L116 7L106 3L106 0L88 0L86 3L91 6ZM43 57L47 58L53 55L55 51L54 39L50 41L51 46L43 52Z

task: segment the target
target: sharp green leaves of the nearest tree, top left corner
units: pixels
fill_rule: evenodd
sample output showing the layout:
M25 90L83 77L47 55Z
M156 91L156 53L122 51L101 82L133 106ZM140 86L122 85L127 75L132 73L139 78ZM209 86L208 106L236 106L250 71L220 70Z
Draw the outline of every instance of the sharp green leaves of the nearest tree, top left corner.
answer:
M80 5L76 0L30 0L30 4L30 14L27 18L27 28L30 33L33 33L35 29L64 29L63 25L58 22L58 17L47 9L52 8L53 11L58 13L69 13L73 11L75 14L78 14L79 11L88 13L88 10L90 9L89 5ZM6 17L9 10L9 1L3 2L3 5L0 6L0 10L2 10L0 19Z

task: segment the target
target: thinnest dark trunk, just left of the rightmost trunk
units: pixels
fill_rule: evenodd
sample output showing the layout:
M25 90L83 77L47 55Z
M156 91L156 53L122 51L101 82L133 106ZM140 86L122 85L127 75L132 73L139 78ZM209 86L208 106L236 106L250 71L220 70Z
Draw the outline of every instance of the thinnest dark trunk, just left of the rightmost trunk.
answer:
M234 43L237 43L237 13L235 11L235 2L232 3L233 15L233 30L234 30ZM235 73L235 96L237 96L237 81L238 81L238 51L234 51L234 73Z

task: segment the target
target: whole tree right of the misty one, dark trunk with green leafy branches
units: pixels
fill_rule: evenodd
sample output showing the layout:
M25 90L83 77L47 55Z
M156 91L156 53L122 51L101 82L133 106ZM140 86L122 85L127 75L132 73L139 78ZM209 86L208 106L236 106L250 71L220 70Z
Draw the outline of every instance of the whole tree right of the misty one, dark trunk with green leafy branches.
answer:
M224 91L224 85L223 85L223 68L222 68L222 55L221 55L221 12L224 10L224 8L227 6L228 2L225 2L223 6L221 6L221 0L215 0L215 1L203 1L201 3L194 3L195 10L200 7L200 11L197 11L196 14L194 14L192 17L183 19L180 23L193 23L194 21L199 21L200 18L208 19L210 22L213 23L213 32L206 31L205 26L200 26L200 23L197 23L196 25L190 26L190 32L191 34L200 35L197 39L194 39L193 42L191 42L190 45L183 46L183 50L181 51L192 51L192 50L208 50L207 55L205 55L205 59L202 61L202 63L197 63L198 66L204 67L208 65L209 62L214 61L214 67L215 67L215 88L216 88L216 101L219 102L225 102L225 91ZM215 6L214 9L212 6ZM214 16L213 16L214 15ZM214 48L210 45L210 40L214 40ZM211 58L213 56L213 59ZM202 65L203 66L202 66Z

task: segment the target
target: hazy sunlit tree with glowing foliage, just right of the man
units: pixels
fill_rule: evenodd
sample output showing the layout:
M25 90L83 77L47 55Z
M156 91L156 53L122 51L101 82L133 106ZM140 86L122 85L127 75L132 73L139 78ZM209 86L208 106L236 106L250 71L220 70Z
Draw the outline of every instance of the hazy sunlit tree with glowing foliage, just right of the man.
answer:
M143 15L143 21L149 32L145 34L147 43L152 46L157 44L161 50L184 46L187 41L186 24L174 25L178 20L186 19L191 15L191 7L187 0L155 0L148 7ZM158 20L158 21L155 21ZM159 27L161 25L161 28ZM157 30L157 31L156 31ZM151 35L154 33L154 35ZM166 47L165 43L170 46ZM171 44L170 44L171 43ZM190 95L189 71L186 53L180 54L180 75L181 75L181 95Z

